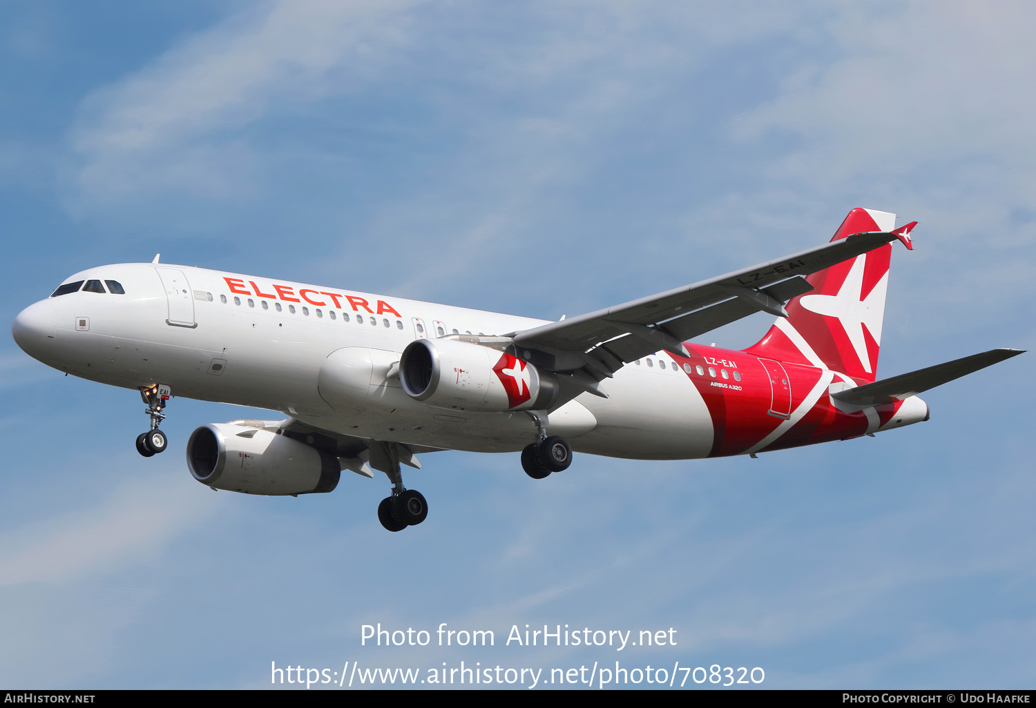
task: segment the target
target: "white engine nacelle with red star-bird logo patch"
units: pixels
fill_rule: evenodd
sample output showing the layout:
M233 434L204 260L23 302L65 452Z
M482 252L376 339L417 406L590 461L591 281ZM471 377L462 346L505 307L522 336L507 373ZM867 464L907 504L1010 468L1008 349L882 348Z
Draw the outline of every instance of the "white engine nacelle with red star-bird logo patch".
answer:
M505 412L546 409L557 377L521 359L457 340L414 340L399 360L407 395L436 408Z

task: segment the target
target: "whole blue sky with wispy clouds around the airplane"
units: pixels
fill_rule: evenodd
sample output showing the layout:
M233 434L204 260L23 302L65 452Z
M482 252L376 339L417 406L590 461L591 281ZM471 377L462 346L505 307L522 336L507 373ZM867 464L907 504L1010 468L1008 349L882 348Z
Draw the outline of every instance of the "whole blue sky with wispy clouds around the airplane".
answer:
M1036 10L1023 2L0 4L0 302L166 262L556 319L830 238L897 247L880 375L1032 349ZM745 347L756 316L704 342ZM1025 355L874 439L677 463L436 453L213 494L178 399L0 345L0 685L262 687L270 661L762 667L769 687L1032 687ZM269 414L268 417L276 417ZM372 649L359 627L674 627L677 647ZM641 684L643 685L643 684Z

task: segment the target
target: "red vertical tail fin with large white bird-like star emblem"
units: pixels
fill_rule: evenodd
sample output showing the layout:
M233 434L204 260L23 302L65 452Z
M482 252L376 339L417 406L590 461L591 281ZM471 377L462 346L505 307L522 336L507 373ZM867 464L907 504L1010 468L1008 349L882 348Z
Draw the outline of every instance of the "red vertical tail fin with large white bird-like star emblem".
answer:
M862 231L892 231L896 215L853 209L832 241ZM806 277L812 292L787 303L767 335L746 349L768 359L809 364L873 381L885 316L890 244Z

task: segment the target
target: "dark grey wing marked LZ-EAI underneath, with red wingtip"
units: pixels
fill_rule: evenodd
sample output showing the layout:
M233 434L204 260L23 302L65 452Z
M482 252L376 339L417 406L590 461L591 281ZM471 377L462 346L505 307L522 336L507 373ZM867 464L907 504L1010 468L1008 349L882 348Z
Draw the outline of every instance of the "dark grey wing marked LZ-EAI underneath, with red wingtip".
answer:
M787 317L783 303L812 287L804 275L903 241L914 225L864 232L774 261L560 322L512 332L521 356L537 366L572 373L585 390L624 364L660 350L688 356L683 342L757 312ZM586 379L586 375L592 380Z

